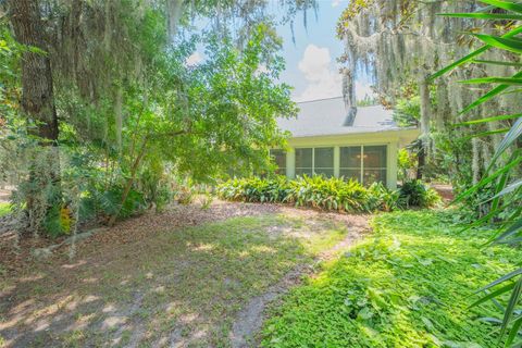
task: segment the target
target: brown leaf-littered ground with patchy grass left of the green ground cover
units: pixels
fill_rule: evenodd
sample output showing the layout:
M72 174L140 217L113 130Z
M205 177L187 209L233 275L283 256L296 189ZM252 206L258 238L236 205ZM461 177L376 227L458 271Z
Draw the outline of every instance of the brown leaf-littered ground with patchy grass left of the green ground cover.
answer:
M73 261L69 247L25 256L1 277L0 346L243 347L264 306L366 220L217 201L126 221L78 244Z

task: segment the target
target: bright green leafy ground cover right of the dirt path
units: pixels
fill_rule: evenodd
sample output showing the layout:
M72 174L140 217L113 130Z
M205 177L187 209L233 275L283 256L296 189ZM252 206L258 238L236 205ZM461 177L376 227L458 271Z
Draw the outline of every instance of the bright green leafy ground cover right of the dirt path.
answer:
M295 288L264 323L264 347L496 347L492 303L474 290L514 269L520 252L483 248L450 212L374 220L375 234Z

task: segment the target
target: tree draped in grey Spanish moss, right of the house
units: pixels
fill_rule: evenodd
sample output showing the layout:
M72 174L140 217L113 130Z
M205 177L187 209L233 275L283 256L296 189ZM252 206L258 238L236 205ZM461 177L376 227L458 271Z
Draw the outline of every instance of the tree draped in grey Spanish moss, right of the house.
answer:
M437 145L432 137L434 130L448 133L450 115L478 98L476 88L458 84L470 76L482 77L486 72L511 74L513 67L495 67L477 64L455 71L443 78L432 80L430 73L449 64L455 57L465 55L473 41L462 35L487 27L498 30L498 24L487 21L451 21L437 16L439 12L483 11L480 1L352 1L338 22L338 36L344 39L346 53L345 95L347 102L355 107L355 79L361 72L368 72L375 82L375 90L385 104L395 105L397 100L411 98L410 86L415 86L414 96L420 99L419 123L421 141L431 159ZM453 45L458 42L459 45ZM490 51L488 59L513 61L512 52ZM405 88L408 87L408 88ZM403 95L403 91L407 95ZM521 101L512 95L475 109L476 115L485 116L495 110L514 111ZM467 117L462 116L462 117ZM461 120L465 121L465 120ZM487 138L474 140L472 145L473 175L475 179L485 171L500 137L495 134L502 128L502 122L475 125L482 132L490 132ZM476 130L476 129L474 129ZM468 130L465 130L468 132ZM471 130L470 130L471 134ZM468 163L462 163L462 172ZM457 185L456 185L457 186Z

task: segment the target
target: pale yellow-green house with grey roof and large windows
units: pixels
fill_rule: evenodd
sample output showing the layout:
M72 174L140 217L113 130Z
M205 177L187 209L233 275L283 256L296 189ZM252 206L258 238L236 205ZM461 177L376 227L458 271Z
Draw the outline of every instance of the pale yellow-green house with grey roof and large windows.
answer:
M291 138L288 147L271 150L278 173L353 178L364 185L383 182L397 187L397 151L419 137L403 128L383 107L358 108L349 116L343 97L298 103L297 119L278 119Z

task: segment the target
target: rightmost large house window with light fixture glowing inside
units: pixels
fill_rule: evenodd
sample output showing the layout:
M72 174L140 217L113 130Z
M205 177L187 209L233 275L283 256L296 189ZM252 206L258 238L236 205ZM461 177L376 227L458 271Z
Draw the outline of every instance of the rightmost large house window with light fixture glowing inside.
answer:
M386 185L386 146L341 147L339 175L364 185L375 182Z

